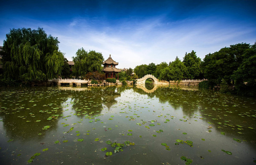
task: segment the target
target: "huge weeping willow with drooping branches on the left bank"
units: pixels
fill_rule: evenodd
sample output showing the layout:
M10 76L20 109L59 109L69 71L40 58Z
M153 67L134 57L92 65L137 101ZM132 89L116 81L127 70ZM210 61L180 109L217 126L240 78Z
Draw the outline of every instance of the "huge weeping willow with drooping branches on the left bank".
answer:
M4 78L25 82L57 78L64 64L58 43L43 28L11 29L3 41Z

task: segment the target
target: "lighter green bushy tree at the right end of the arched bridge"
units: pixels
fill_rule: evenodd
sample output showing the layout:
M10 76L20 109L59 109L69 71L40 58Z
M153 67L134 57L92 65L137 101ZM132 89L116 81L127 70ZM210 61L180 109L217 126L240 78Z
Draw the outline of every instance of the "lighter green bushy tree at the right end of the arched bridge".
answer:
M159 78L166 81L182 80L184 75L186 75L186 72L186 66L183 64L183 62L180 61L178 57L176 57L174 62L170 63L168 67L161 70Z

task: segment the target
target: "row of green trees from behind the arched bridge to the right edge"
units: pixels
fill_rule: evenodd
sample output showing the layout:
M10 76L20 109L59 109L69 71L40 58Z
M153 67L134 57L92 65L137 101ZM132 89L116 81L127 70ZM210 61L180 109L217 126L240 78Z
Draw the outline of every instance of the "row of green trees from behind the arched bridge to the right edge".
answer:
M160 80L208 79L201 85L204 88L221 86L222 92L238 95L256 95L256 43L240 43L221 48L218 52L207 54L203 60L196 52L186 53L183 61L160 64L142 64L134 68L139 78L152 74Z

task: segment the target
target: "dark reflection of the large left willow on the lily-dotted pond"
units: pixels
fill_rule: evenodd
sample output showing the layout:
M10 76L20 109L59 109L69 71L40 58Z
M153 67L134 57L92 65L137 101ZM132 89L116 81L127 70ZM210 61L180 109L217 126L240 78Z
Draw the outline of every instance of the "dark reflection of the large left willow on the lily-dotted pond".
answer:
M58 95L58 99L56 99ZM10 139L41 139L46 123L49 130L57 127L58 117L62 115L61 103L67 97L61 97L58 90L38 91L37 88L11 89L1 91L0 116L3 118L3 129Z

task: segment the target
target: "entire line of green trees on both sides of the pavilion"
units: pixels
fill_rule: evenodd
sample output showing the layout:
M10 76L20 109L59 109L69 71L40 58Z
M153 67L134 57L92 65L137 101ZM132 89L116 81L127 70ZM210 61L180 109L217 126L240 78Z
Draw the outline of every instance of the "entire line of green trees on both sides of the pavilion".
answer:
M58 38L47 35L42 28L11 29L3 41L0 51L0 86L15 85L20 82L31 83L47 81L52 78L105 78L102 73L102 53L83 48L73 57L75 66L70 72L67 59L58 49ZM256 95L256 43L230 45L215 53L207 54L203 60L196 52L186 53L181 61L161 62L160 64L142 64L119 78L130 80L152 74L161 80L202 79L209 81L201 85L204 88L221 86L221 91L239 95Z

